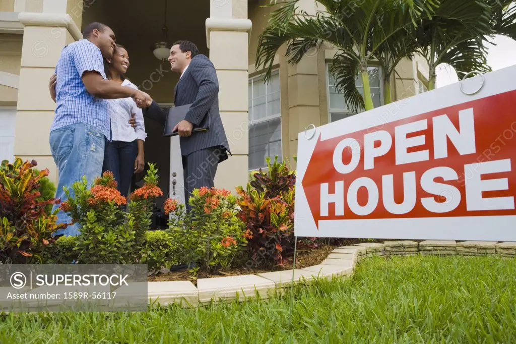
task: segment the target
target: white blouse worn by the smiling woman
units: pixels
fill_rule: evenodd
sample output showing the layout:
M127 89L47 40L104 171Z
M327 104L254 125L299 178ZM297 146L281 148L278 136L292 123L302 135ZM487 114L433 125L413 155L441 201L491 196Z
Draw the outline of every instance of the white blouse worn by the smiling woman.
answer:
M138 89L135 84L125 79L122 86ZM132 142L136 139L145 141L147 133L145 132L145 124L143 122L143 114L141 108L131 97L108 100L108 111L111 118L112 140ZM129 120L131 115L135 114L136 128L131 127Z

